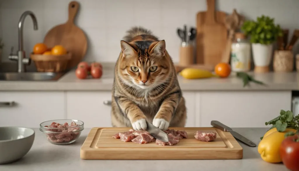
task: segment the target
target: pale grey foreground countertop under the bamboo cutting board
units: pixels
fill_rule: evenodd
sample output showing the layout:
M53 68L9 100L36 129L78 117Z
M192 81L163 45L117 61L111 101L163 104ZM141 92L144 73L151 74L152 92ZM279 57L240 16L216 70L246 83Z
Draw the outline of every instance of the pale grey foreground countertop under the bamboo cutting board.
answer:
M38 128L34 130L35 140L27 155L14 163L0 165L1 171L288 171L282 163L271 164L263 161L257 147L249 147L240 142L243 147L243 159L237 160L83 160L80 158L80 148L90 129L85 128L79 139L70 145L51 144ZM233 130L258 145L260 137L268 128L233 128Z

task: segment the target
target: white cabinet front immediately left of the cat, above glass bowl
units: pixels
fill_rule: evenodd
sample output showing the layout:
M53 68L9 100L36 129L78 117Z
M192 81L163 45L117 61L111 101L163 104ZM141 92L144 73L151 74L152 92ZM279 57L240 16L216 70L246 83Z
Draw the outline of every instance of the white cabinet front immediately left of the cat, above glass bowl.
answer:
M68 91L66 93L66 116L84 122L84 127L111 127L111 106L104 101L111 101L110 91Z

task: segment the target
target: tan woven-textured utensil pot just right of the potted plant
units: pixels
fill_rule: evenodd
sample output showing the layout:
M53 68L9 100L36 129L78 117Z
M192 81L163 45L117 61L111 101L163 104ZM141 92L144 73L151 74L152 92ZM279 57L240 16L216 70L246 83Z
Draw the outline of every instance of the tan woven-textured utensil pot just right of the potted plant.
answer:
M274 72L292 72L294 66L294 55L289 50L275 50L273 58Z

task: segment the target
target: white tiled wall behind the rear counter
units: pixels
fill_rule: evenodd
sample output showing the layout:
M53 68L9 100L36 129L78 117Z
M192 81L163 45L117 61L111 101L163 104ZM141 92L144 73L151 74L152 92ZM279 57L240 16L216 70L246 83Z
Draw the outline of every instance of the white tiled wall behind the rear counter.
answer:
M24 24L26 56L35 43L42 42L54 26L68 19L71 0L0 0L0 36L3 39L3 61L8 61L10 47L18 46L18 21L23 12L35 13L39 30L33 31L28 16ZM88 49L84 60L115 62L120 52L120 40L127 29L140 25L150 29L159 39L166 40L174 62L179 61L180 39L176 28L196 26L196 14L206 10L206 0L77 0L80 3L75 22L87 36ZM299 0L216 0L217 10L231 13L234 8L248 19L262 14L292 32L299 28ZM299 53L299 43L294 46Z

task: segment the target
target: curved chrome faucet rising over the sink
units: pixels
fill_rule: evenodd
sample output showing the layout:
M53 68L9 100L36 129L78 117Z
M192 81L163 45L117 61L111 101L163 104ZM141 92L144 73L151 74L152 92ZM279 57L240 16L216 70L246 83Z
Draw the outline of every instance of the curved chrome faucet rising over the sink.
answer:
M19 31L18 31L18 36L19 36L19 50L17 51L16 55L13 55L13 47L11 47L11 52L9 55L10 60L16 60L18 62L18 72L26 72L26 65L30 65L31 60L30 58L25 57L25 51L23 49L23 26L24 26L24 20L27 15L30 15L31 19L33 20L33 29L38 30L37 28L37 20L32 11L25 11L19 20Z

